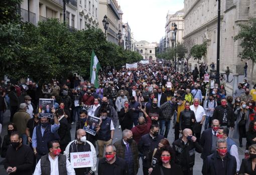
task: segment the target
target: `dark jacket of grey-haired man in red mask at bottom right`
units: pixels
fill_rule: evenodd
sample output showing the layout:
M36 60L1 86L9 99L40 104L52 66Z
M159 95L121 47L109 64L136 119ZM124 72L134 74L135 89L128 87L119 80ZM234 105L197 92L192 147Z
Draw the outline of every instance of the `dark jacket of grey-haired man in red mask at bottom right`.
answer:
M228 152L226 158L226 175L234 175L236 173L236 160L235 157ZM222 161L217 155L217 151L207 156L203 163L202 174L203 175L218 175L218 169L220 168L217 161Z

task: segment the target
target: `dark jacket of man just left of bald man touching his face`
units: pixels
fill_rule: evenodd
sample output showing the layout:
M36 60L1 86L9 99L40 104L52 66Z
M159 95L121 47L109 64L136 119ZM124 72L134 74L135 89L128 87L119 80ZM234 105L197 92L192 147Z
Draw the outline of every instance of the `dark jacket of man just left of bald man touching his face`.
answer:
M143 158L142 158L143 166L148 167L147 161L149 158L149 152L157 148L158 143L163 138L164 138L163 135L158 135L153 139L149 133L142 136L138 144L138 149L139 149L139 152L143 154Z

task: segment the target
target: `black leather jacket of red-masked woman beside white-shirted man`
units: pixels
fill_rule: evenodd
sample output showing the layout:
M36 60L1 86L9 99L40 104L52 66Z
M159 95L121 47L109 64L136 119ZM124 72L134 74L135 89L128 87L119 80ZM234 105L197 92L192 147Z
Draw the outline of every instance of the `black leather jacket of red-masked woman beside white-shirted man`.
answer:
M194 122L196 121L195 113L192 110L183 110L180 113L180 118L179 118L179 125L180 125L180 130L185 129L185 126L190 126L192 128L193 122L192 119L194 119Z

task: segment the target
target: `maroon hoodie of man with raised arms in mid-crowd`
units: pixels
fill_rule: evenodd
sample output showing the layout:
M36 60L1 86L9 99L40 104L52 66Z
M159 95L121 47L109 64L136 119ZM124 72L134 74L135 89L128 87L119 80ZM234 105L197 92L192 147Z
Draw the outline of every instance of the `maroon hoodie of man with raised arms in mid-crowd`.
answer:
M149 116L146 117L146 123L144 124L139 124L136 125L135 127L133 127L131 130L133 132L133 138L136 141L136 143L138 144L141 137L147 133L149 133L150 131L150 126L152 124L152 120L150 119Z

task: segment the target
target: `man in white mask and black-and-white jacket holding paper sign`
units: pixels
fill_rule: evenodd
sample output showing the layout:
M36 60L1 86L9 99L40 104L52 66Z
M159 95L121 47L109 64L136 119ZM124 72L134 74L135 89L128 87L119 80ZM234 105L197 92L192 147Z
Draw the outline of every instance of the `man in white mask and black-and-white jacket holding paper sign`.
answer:
M75 169L76 175L90 175L94 174L96 171L96 163L97 163L97 154L95 151L95 148L91 142L86 140L86 132L83 129L78 129L76 131L76 139L74 141L71 141L65 151L64 155L70 160L74 159L71 156L72 152L77 152L77 153L84 153L84 152L90 152L90 155L93 158L93 161L90 162L90 166L88 165L78 165L77 164L71 164L73 168ZM77 162L79 161L78 159L75 159ZM84 159L83 159L84 160ZM71 161L72 162L72 161Z

